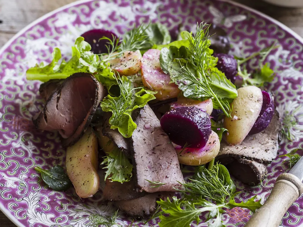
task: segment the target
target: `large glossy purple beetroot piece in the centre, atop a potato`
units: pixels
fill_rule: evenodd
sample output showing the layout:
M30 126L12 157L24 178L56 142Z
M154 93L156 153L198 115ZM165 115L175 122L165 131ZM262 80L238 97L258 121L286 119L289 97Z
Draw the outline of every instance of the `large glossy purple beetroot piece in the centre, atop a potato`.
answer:
M202 148L211 134L208 114L197 107L179 107L165 113L160 124L171 141L180 146Z

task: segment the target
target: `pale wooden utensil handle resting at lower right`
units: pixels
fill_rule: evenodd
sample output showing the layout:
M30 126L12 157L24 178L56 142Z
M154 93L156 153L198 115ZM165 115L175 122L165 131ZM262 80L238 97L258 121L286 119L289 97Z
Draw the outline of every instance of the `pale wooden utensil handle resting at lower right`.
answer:
M285 212L303 193L303 183L295 175L283 173L263 206L250 218L245 227L277 227Z

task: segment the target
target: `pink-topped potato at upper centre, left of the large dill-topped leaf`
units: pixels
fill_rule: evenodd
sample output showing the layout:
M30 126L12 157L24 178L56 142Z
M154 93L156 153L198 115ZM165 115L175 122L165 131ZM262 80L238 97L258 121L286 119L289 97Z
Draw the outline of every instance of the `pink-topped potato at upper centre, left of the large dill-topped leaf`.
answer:
M170 76L161 69L160 50L150 49L143 54L141 78L145 87L158 92L155 97L159 100L175 98L180 92L176 84L169 83Z

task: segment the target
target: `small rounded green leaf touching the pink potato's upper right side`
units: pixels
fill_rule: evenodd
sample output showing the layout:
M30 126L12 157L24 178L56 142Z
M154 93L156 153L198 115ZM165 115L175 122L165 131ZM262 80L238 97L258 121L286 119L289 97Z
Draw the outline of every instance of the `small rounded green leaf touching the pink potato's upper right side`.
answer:
M160 66L164 73L168 74L169 62L174 58L186 58L187 51L185 46L177 48L176 46L170 46L169 49L164 47L160 52Z

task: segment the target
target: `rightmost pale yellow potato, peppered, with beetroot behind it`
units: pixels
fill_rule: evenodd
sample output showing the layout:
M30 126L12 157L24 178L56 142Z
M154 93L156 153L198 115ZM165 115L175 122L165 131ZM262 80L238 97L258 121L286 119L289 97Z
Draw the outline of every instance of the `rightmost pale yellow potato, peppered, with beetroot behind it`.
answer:
M224 128L228 130L226 141L235 145L241 143L254 126L262 108L263 95L256 86L241 87L238 97L233 100L231 118L224 118Z

